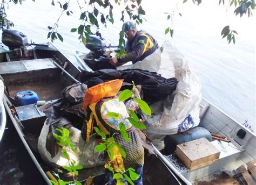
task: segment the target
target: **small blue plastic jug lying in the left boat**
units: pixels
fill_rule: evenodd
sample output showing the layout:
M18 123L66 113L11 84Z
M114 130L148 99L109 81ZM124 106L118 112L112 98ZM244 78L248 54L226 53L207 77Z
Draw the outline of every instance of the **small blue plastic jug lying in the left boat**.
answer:
M38 100L38 95L32 90L21 91L14 97L14 101L17 106L33 104Z

